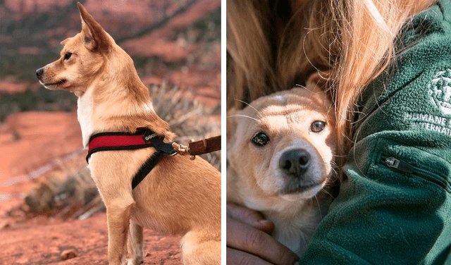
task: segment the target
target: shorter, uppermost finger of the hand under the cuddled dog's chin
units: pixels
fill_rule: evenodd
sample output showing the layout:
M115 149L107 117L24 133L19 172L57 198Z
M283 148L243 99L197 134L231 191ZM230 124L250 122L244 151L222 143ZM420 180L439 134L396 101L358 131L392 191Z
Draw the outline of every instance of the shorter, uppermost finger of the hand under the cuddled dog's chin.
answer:
M237 221L240 221L241 223L246 223L253 228L262 230L265 233L273 233L273 222L266 220L264 216L261 215L258 211L254 211L246 207L241 207L237 204L228 203L227 215Z

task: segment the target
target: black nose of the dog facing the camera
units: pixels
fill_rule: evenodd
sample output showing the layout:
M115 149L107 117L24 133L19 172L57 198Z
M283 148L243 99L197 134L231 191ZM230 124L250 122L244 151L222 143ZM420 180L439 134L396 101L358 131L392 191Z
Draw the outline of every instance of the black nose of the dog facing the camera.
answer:
M310 155L304 149L292 149L283 153L279 160L280 169L294 178L301 178L309 168Z

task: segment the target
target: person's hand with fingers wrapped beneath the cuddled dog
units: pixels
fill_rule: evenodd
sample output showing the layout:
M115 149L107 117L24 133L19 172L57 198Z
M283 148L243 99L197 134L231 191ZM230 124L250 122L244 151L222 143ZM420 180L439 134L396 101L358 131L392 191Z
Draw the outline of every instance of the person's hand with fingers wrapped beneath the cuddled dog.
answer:
M271 234L274 224L258 211L227 204L227 264L295 264L298 257Z

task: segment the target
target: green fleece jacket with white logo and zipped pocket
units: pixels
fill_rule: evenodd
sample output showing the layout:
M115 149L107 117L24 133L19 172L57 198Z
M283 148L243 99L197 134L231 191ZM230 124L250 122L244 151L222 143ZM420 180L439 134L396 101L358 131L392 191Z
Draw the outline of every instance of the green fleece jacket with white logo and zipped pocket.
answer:
M451 0L362 94L346 179L300 264L451 264Z

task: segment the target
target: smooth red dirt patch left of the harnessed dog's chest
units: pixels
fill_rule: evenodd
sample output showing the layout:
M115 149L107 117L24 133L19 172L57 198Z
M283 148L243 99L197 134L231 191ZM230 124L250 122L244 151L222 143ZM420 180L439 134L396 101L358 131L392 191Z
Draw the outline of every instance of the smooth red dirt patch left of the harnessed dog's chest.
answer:
M77 113L30 111L0 126L0 180L23 175L82 148Z

